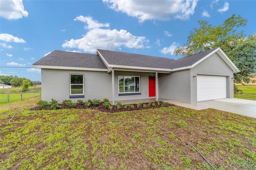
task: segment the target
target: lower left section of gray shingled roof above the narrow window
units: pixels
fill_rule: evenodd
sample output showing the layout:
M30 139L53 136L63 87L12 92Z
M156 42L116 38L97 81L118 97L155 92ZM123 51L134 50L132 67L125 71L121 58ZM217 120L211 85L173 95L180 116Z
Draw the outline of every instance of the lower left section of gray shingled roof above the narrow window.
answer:
M33 65L106 69L99 55L55 50Z

